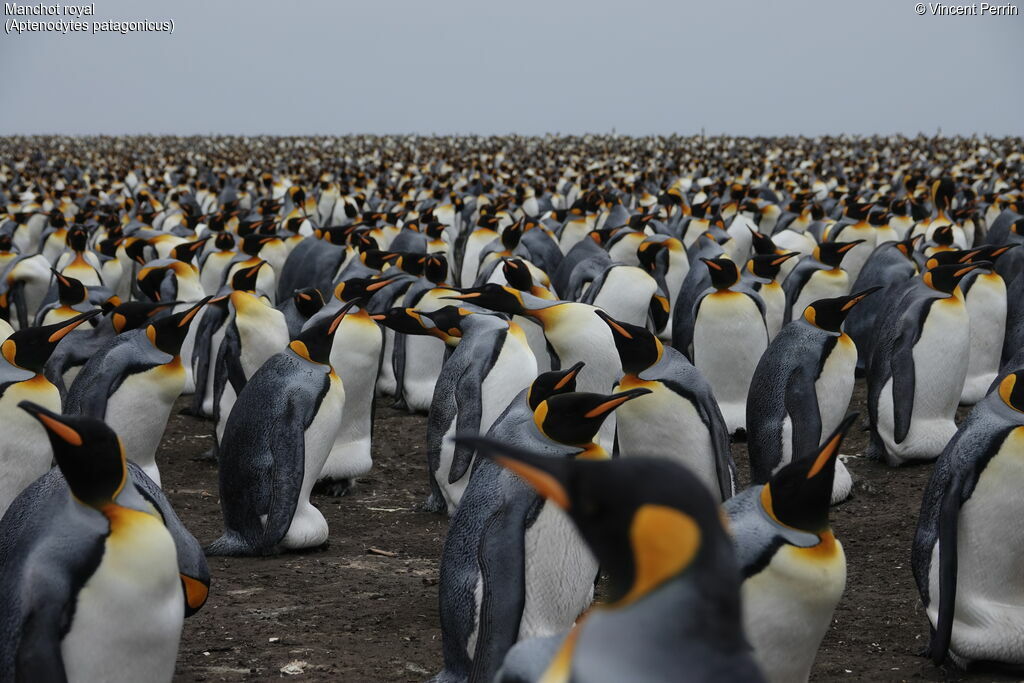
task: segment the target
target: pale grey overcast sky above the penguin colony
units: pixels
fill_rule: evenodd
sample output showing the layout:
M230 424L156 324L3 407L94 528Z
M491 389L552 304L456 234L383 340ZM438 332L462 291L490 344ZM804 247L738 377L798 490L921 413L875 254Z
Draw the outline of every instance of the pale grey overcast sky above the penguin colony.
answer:
M1024 134L1024 0L915 4L96 0L174 34L0 34L0 134Z

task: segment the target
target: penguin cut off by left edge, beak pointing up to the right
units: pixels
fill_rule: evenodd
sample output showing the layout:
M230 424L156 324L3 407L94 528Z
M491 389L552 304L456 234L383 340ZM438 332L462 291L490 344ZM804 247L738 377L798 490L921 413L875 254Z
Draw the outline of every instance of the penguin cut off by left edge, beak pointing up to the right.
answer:
M60 410L60 393L43 376L57 344L75 328L98 314L40 328L26 328L0 342L0 517L14 497L50 467L49 441L39 423L16 410L31 400L51 411Z

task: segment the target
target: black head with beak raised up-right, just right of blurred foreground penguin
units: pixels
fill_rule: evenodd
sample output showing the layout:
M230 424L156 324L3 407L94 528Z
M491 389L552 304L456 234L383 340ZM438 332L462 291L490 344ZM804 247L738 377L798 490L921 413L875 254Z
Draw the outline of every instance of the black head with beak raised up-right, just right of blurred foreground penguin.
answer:
M761 489L761 505L776 521L811 533L828 529L836 459L843 436L857 419L848 415L817 453L794 454L794 460Z

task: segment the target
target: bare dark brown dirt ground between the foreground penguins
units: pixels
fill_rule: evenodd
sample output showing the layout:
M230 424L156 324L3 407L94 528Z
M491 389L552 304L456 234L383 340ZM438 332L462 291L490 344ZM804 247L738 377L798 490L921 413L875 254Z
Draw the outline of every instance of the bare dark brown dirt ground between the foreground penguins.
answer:
M331 528L325 550L211 558L206 606L185 622L176 681L423 681L441 664L437 568L447 520L427 495L426 420L380 399L374 471L346 497L313 497ZM184 403L182 403L183 405ZM866 416L858 384L854 410ZM210 424L175 415L158 456L164 486L206 545L221 531L217 472L196 460ZM930 466L891 470L844 444L854 497L834 510L847 590L818 652L814 681L1015 680L938 669L918 653L928 621L910 572L910 540ZM745 478L745 449L734 449Z

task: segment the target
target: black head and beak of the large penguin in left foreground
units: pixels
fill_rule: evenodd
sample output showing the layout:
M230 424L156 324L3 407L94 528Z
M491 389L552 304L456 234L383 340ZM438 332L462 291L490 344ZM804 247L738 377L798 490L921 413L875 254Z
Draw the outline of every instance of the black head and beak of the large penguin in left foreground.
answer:
M113 503L128 480L124 450L114 430L101 420L59 415L28 400L18 408L46 430L72 496L96 509Z

